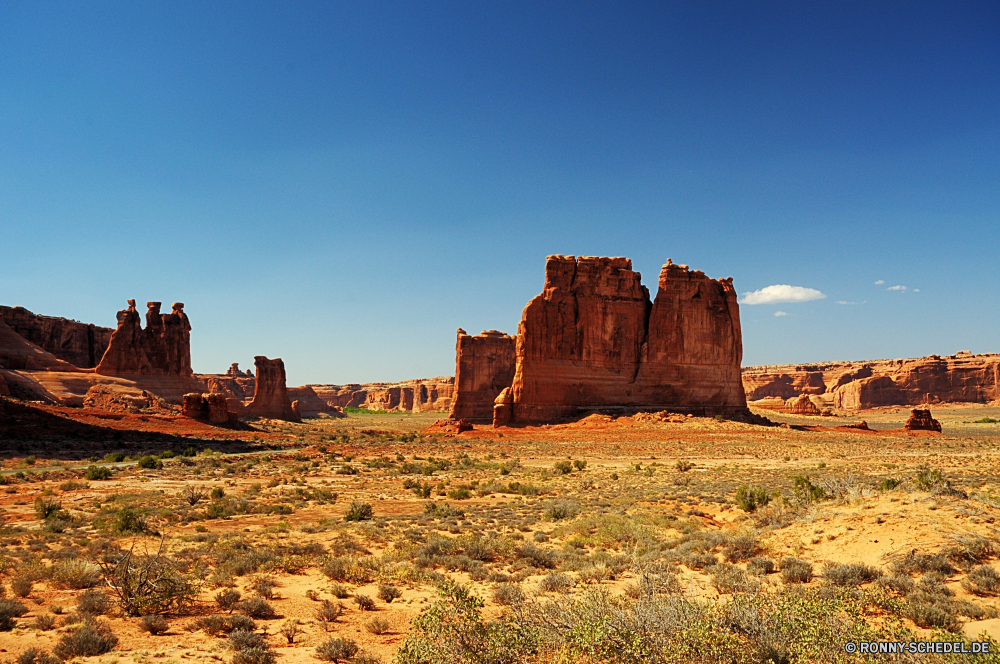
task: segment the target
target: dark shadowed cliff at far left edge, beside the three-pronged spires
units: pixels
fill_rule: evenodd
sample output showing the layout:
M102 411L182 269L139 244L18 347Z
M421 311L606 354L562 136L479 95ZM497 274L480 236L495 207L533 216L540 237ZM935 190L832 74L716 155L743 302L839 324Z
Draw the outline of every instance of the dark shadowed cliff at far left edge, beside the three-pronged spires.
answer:
M40 316L24 307L0 306L0 320L39 348L81 369L97 366L114 332L108 327Z

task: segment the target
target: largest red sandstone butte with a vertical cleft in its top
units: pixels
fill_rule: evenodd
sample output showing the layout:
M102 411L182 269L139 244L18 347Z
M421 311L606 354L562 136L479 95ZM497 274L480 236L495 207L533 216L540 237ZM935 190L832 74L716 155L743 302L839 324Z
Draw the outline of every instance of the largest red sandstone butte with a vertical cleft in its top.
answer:
M732 279L668 260L650 303L640 278L627 258L547 258L545 288L518 325L512 423L593 410L746 412Z

